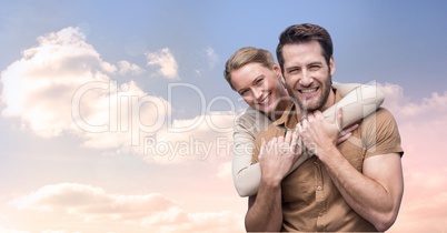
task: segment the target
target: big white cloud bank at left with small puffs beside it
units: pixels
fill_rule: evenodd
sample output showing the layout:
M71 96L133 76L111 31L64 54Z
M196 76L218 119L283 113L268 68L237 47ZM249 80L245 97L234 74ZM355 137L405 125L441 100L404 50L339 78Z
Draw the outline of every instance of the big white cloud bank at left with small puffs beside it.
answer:
M207 51L215 57L212 49ZM160 72L177 77L168 48L147 55L150 64L161 65ZM140 154L148 162L230 154L232 114L172 120L167 100L147 94L133 81L110 78L142 72L128 61L103 61L78 28L66 28L39 37L36 47L2 71L2 115L19 118L22 129L42 138L73 134L86 148Z

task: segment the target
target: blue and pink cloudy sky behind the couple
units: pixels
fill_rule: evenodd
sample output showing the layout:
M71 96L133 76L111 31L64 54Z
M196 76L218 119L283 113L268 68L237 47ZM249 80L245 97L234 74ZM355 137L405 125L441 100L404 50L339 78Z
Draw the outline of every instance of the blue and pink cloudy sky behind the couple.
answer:
M405 193L388 232L447 232L447 2L3 0L0 233L244 232L225 81L239 48L325 27L337 82L376 81Z

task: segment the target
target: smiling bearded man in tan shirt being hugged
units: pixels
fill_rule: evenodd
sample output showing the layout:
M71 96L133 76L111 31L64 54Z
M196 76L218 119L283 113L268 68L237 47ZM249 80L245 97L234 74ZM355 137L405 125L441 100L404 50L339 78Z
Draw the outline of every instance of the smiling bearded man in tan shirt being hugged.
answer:
M262 166L258 194L249 197L247 231L386 231L397 217L404 192L404 151L393 115L377 110L337 145L342 113L331 122L321 114L340 100L331 87L336 67L329 33L315 24L291 26L279 37L277 57L295 103L258 135L254 162L262 166L277 151L296 156L284 150L290 139L281 129L296 128L301 148L315 156L287 176Z

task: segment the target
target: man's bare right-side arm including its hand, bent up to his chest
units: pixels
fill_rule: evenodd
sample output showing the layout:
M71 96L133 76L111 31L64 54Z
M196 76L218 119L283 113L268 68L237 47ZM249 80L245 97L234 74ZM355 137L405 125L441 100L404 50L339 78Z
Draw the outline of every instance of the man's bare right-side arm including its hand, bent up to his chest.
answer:
M341 113L339 122L340 119ZM400 154L368 156L364 161L361 173L338 151L336 146L338 125L335 122L322 121L321 113L315 112L298 128L305 145L315 149L334 184L352 210L374 224L378 231L389 229L397 217L404 193ZM394 140L387 136L389 135L376 140L378 143Z

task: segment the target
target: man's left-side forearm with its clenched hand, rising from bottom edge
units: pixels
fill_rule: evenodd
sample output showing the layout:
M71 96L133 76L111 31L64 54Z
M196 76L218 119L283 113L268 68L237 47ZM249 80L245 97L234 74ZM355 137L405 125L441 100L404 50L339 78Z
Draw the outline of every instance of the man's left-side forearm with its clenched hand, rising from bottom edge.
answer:
M271 139L260 146L261 183L257 195L249 197L246 215L248 232L278 232L282 226L281 181L299 158L297 134ZM292 145L292 146L290 146Z

